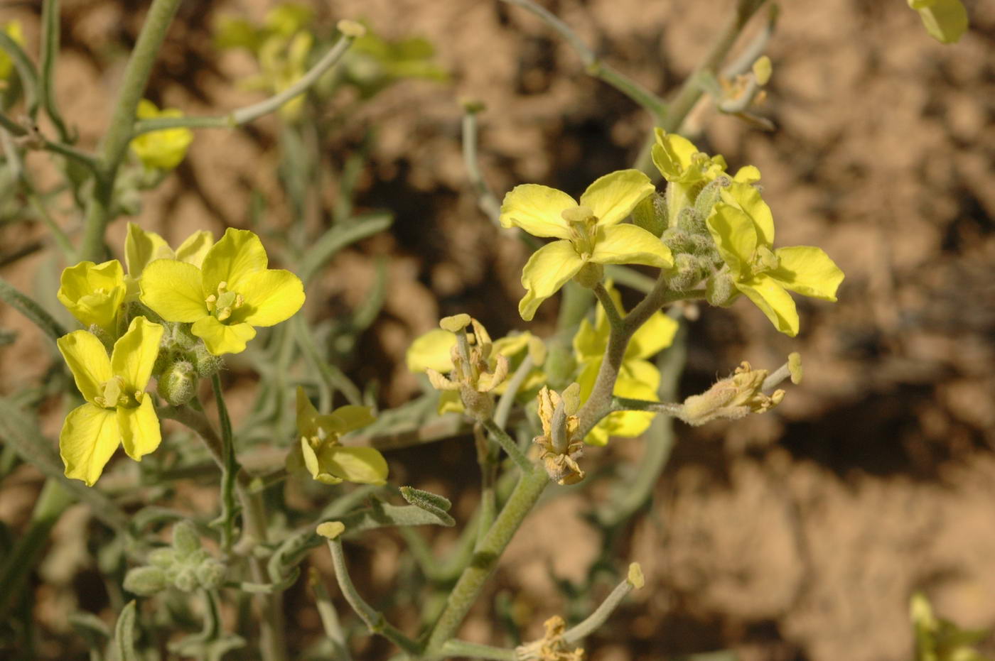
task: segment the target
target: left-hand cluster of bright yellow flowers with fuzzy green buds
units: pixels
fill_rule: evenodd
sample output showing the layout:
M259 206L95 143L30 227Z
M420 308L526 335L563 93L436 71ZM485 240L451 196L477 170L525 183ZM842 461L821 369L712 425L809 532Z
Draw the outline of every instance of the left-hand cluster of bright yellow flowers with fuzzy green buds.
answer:
M297 275L267 268L251 232L207 232L173 250L158 235L129 225L125 275L119 261L66 268L57 294L82 323L58 341L86 404L69 413L59 436L66 475L93 485L118 445L140 460L160 442L153 397L167 404L196 394L199 378L218 371L256 335L303 304ZM109 355L108 355L109 353Z

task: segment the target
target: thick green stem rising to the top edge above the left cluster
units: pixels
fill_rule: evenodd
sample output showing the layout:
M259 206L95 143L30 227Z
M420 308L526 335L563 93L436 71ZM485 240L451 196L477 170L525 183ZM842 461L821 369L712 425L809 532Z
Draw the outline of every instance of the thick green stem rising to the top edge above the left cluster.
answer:
M152 65L165 41L181 0L152 0L145 22L141 26L134 50L124 68L124 75L110 114L107 131L100 145L100 176L95 181L94 195L87 210L80 257L100 261L104 255L103 232L110 222L110 204L117 167L127 153L131 141L138 101L148 83Z

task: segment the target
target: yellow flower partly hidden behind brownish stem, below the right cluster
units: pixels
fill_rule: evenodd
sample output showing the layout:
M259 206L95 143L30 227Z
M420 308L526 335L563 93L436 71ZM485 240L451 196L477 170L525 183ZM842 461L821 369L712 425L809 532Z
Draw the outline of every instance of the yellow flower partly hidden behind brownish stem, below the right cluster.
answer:
M621 297L610 282L608 292L621 310ZM605 316L605 309L600 304L594 319L593 325L587 319L582 320L573 337L581 402L586 402L594 390L594 383L597 381L598 371L604 360L605 347L608 346L610 325ZM678 323L663 312L655 312L645 324L640 326L626 347L612 394L617 397L660 402L660 395L657 392L660 388L660 370L646 359L671 346L677 330ZM584 441L592 445L604 445L610 436L629 438L638 436L650 426L654 415L655 413L644 411L609 413L594 425Z

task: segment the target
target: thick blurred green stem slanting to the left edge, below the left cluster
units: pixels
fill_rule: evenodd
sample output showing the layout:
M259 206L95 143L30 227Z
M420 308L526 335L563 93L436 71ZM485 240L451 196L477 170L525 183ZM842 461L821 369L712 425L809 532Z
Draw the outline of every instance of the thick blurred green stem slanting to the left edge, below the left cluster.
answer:
M45 480L27 531L18 538L17 545L0 566L0 585L3 585L0 590L0 621L7 621L11 607L24 596L24 584L45 550L52 527L72 504L73 496L59 480Z

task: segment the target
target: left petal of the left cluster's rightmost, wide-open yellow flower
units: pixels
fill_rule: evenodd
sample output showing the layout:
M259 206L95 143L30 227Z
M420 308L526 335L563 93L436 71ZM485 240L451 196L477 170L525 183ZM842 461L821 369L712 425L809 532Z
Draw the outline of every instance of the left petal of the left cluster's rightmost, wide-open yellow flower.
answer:
M141 302L166 321L191 323L207 316L200 269L176 259L156 259L141 274Z

